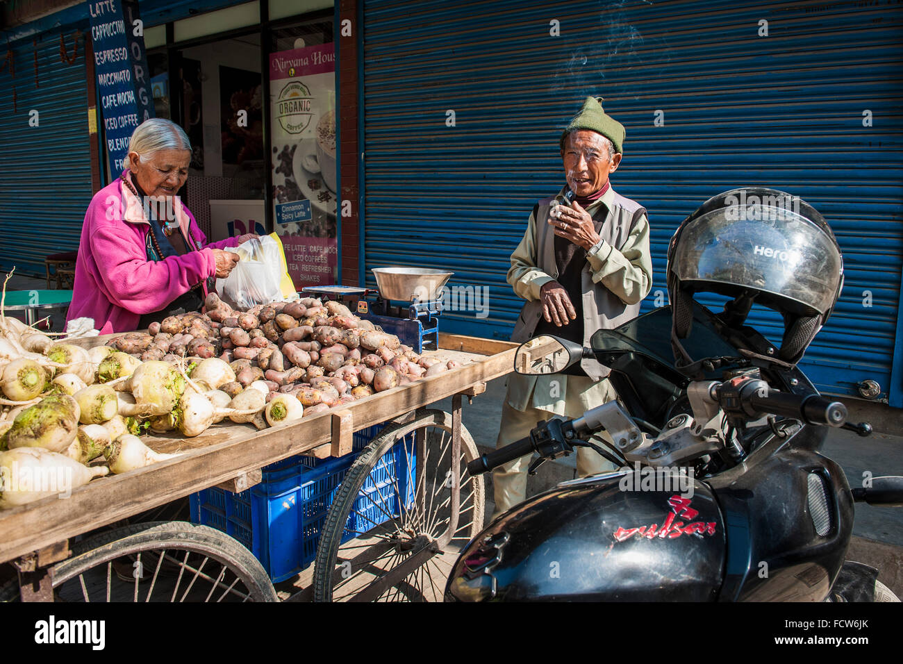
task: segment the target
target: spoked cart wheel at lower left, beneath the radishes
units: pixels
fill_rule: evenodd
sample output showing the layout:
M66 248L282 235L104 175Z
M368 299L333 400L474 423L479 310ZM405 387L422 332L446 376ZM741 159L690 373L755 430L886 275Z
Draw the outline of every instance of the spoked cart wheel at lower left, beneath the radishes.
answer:
M138 523L85 539L53 566L59 602L277 602L264 568L237 540L183 521ZM18 601L18 579L0 601Z

